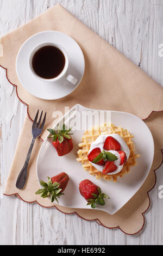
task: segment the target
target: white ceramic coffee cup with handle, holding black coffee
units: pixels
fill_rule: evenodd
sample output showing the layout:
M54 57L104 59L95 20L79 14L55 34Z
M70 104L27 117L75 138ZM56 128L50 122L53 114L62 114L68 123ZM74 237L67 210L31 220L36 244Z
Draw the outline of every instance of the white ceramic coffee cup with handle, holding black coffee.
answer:
M42 47L44 46L54 46L54 47L57 47L59 48L59 50L64 54L65 56L65 66L64 66L64 69L61 71L61 73L57 76L57 77L54 77L54 78L51 78L51 79L46 79L46 78L42 78L40 76L38 76L34 69L33 69L33 65L32 65L32 60L33 60L33 57L34 57L34 54ZM72 83L72 84L76 84L77 83L77 78L72 76L71 74L68 74L67 70L68 70L68 65L69 65L69 61L68 61L68 54L65 50L64 47L62 47L61 45L59 44L54 44L52 42L44 42L43 44L39 44L37 46L34 47L34 49L30 52L29 54L29 68L30 70L32 71L33 75L38 78L39 80L43 81L43 82L55 82L57 80L59 80L60 78L65 78L68 82Z

